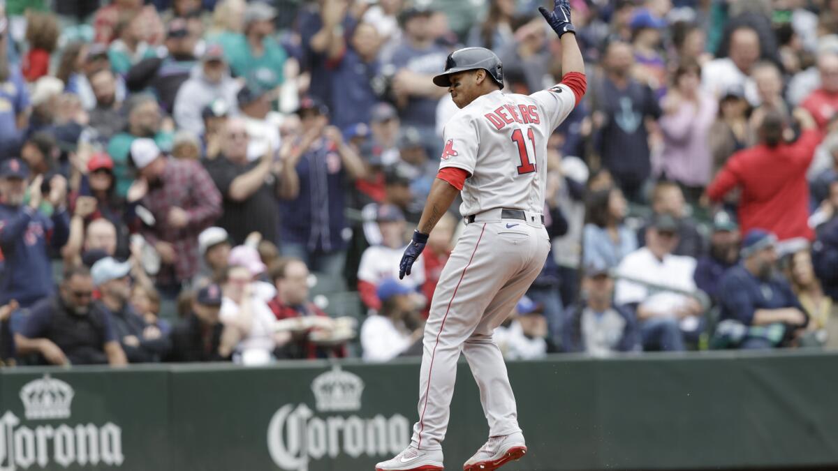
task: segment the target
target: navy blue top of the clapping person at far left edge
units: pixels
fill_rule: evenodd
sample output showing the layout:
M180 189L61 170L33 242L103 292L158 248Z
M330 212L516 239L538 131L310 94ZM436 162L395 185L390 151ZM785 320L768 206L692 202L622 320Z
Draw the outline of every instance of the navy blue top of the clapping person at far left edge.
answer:
M0 204L0 250L6 258L0 274L0 305L17 299L28 308L52 294L49 246L58 250L69 236L70 215L65 210L48 218L28 206Z

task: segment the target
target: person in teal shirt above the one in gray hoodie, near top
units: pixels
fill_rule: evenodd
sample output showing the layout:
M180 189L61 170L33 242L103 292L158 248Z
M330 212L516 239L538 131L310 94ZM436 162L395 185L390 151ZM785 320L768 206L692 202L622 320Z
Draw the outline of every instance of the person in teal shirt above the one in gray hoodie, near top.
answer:
M287 54L274 38L276 9L265 3L249 3L245 10L245 33L223 33L214 42L224 48L233 75L266 89L282 85Z

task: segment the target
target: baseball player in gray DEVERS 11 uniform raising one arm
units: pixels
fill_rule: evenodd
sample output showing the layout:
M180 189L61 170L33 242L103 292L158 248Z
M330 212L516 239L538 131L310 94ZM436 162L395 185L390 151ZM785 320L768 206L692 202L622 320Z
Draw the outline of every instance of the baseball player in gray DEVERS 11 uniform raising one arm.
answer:
M497 469L526 453L515 396L492 334L541 272L550 251L542 215L547 138L586 87L567 0L555 0L552 11L539 10L561 38L561 83L530 96L504 94L500 61L483 48L454 51L445 72L433 79L447 87L460 111L445 126L440 170L401 258L399 276L411 274L428 234L458 193L467 225L442 270L425 326L419 422L411 444L396 458L378 463L376 471L442 470L442 440L461 351L489 422L489 441L463 469Z

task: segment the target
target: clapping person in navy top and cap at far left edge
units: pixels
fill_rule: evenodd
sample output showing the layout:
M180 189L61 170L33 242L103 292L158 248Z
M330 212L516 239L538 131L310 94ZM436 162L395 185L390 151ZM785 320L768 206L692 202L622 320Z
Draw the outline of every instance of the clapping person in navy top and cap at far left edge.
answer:
M0 163L0 250L5 258L0 306L14 299L28 308L54 292L49 253L64 246L70 231L64 177L54 176L44 196L44 177L36 177L27 189L28 176L26 164L18 158ZM27 192L29 200L23 204ZM53 206L52 215L39 209L44 199Z

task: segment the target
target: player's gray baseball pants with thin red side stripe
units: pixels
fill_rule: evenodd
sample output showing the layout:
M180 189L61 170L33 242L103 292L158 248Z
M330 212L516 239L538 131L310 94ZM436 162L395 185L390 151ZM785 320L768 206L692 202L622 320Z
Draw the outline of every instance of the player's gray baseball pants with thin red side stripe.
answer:
M448 427L462 350L480 389L489 437L520 432L515 396L494 329L544 267L550 239L541 222L473 222L448 259L425 325L419 380L419 422L412 443L438 449Z

